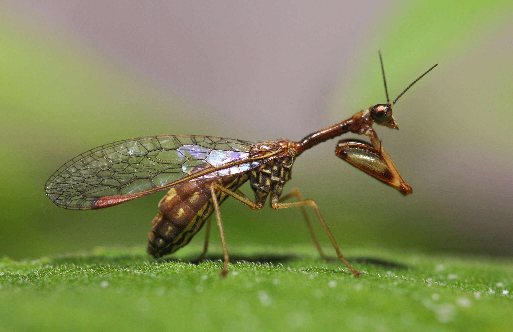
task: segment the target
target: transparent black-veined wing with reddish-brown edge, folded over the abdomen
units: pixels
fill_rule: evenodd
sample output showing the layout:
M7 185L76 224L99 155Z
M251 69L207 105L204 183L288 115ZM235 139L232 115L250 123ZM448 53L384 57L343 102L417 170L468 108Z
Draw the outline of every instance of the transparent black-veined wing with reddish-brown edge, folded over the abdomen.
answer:
M98 146L65 163L48 179L46 194L57 206L89 210L166 189L194 177L249 170L257 143L237 139L162 135Z

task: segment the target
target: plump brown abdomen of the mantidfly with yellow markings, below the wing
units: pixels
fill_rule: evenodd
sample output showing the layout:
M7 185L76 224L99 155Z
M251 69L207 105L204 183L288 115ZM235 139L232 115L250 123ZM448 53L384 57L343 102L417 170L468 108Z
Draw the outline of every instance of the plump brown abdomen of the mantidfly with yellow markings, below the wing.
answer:
M159 213L151 223L148 253L160 257L190 242L214 210L210 194L211 183L218 182L223 187L235 190L247 179L246 174L236 174L189 181L171 188L160 201ZM217 197L221 204L227 195L218 193Z

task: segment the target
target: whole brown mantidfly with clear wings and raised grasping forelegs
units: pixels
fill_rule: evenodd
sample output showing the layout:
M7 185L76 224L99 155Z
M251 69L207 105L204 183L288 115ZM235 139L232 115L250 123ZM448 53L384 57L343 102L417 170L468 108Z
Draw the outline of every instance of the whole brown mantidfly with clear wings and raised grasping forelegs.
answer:
M419 79L410 84L399 97ZM238 199L251 209L261 209L268 196L273 209L300 207L314 245L325 257L306 214L305 207L310 206L339 258L359 276L360 272L344 259L315 202L304 200L297 189L283 196L282 191L290 179L295 158L314 145L352 132L368 136L371 144L343 140L337 145L336 155L404 195L410 194L411 187L401 177L372 128L374 122L397 128L391 106L399 97L390 103L387 91L386 95L386 104L373 105L366 111L362 110L347 120L307 135L297 142L286 139L249 142L211 136L162 135L100 146L73 158L58 169L46 182L46 194L62 208L91 210L168 190L152 222L148 253L160 257L180 249L206 223L207 236L202 257L208 248L209 217L215 212L224 251L222 275L226 275L229 256L219 206L228 196ZM239 190L248 180L255 194L254 200ZM282 202L289 197L295 197L297 201Z

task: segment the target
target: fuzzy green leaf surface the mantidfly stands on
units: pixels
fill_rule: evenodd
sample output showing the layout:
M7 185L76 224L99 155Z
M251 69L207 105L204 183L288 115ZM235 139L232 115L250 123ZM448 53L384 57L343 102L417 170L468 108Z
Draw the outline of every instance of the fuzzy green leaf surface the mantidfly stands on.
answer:
M513 330L513 261L358 248L220 248L196 265L143 248L0 260L2 330ZM331 248L325 248L331 252ZM212 261L213 260L213 261Z

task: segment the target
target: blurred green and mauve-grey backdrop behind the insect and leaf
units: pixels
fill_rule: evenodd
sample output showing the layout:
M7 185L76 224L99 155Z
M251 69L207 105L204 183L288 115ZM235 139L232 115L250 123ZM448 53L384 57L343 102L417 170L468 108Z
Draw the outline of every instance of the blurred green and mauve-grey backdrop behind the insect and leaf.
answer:
M67 211L47 178L131 137L300 139L385 102L378 49L391 98L440 64L394 106L400 131L377 128L413 195L343 163L335 140L297 159L287 187L318 202L342 249L513 252L510 1L62 6L0 5L0 255L145 245L162 194ZM310 242L299 210L222 213L228 245Z

